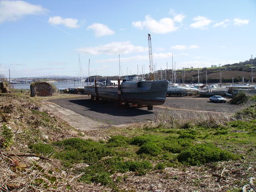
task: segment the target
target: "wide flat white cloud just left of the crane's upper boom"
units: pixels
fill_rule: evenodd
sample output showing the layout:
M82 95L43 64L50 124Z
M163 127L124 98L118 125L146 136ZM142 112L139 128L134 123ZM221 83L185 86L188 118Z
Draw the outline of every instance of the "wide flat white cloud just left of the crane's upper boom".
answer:
M85 47L77 49L78 52L86 54L129 54L136 52L147 52L148 47L134 46L129 41L111 42L98 47Z

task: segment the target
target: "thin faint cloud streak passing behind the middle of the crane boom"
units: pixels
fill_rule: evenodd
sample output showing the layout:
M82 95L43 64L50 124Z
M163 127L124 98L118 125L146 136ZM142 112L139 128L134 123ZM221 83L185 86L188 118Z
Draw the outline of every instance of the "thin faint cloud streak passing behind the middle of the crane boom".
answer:
M162 59L162 58L170 58L172 57L172 53L154 53L153 57L155 59ZM130 62L130 61L137 61L137 60L148 60L148 55L135 55L132 57L121 58L121 62ZM112 63L118 62L118 58L110 58L110 59L99 59L96 60L98 63Z

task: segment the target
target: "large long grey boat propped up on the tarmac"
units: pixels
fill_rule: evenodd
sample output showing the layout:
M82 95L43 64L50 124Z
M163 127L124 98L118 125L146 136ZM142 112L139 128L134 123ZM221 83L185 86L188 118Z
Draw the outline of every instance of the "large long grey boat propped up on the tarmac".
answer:
M118 103L136 104L138 107L162 105L165 102L168 82L165 80L142 80L133 75L118 80L112 86L87 86L84 93L91 95L93 100L106 99Z

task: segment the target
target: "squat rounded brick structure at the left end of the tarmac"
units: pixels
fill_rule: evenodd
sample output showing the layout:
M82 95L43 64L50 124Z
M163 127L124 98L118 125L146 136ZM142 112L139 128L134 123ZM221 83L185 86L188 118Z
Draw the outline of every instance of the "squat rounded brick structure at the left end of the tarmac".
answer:
M53 93L52 85L46 82L36 82L30 85L31 97L51 97Z

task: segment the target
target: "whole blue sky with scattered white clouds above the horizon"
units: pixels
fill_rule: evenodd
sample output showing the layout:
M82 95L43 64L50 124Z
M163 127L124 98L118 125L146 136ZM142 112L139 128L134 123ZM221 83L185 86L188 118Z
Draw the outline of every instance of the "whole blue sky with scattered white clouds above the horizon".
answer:
M0 74L148 73L148 34L157 70L248 60L256 0L0 0Z

